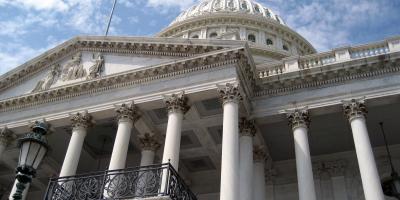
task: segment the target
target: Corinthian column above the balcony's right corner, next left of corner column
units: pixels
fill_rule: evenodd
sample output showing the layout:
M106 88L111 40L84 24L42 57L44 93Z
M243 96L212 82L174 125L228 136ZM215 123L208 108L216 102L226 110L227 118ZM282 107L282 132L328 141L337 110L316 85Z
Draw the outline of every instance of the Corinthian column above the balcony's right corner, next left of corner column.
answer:
M181 146L182 120L183 115L189 110L187 101L188 99L184 92L164 96L164 103L168 109L168 125L162 163L170 162L177 171Z

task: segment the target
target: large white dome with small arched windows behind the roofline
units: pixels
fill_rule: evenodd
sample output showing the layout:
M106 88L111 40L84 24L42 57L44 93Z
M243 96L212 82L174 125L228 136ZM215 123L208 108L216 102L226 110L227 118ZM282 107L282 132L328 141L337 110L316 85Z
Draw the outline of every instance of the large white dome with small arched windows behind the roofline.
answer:
M280 16L253 0L202 0L156 36L249 41L253 52L272 56L264 61L316 52Z

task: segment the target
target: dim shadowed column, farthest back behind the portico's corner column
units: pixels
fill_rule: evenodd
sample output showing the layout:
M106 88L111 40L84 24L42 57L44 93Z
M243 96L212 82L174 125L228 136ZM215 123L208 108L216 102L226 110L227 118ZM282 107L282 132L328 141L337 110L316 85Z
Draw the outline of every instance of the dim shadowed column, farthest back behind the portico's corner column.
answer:
M265 151L261 148L254 149L254 174L253 174L253 197L254 200L266 200L265 185Z

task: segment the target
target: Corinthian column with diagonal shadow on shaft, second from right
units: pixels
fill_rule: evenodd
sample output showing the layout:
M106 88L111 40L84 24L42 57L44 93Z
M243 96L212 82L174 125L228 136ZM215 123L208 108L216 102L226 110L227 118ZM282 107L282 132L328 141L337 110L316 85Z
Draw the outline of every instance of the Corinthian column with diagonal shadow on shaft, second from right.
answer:
M316 200L314 176L308 144L310 118L307 110L295 110L288 114L289 125L293 130L296 152L297 181L300 200Z

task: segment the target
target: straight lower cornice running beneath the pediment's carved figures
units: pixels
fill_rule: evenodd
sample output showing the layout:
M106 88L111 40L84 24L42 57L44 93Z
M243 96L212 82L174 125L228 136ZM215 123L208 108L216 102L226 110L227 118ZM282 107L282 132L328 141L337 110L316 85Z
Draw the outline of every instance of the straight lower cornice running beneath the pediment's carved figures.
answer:
M195 71L218 68L229 64L236 64L241 58L243 59L241 55L243 55L245 51L246 49L243 47L213 51L187 59L13 97L0 101L0 112L61 101L116 88L129 87Z

